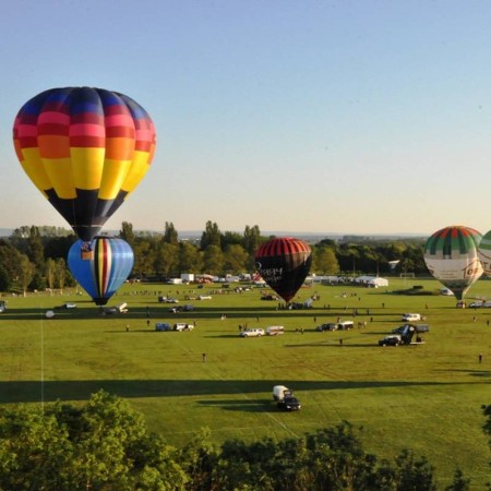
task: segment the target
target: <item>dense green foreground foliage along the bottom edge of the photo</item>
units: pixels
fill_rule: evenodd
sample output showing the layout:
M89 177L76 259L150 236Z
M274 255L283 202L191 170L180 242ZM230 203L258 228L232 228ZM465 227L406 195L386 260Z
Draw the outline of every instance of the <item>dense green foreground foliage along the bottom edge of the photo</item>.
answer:
M128 403L100 391L83 407L2 409L0 490L436 490L426 457L405 450L394 462L379 460L364 451L360 431L344 422L286 441L231 440L220 447L203 431L177 450ZM469 489L458 469L445 488Z

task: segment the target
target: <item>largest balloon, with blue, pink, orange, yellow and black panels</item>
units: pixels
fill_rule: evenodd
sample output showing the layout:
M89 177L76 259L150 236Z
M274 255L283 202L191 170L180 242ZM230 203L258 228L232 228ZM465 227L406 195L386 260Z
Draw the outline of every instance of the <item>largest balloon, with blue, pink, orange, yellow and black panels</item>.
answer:
M140 183L156 145L137 103L91 87L33 97L15 118L13 140L27 176L85 242Z

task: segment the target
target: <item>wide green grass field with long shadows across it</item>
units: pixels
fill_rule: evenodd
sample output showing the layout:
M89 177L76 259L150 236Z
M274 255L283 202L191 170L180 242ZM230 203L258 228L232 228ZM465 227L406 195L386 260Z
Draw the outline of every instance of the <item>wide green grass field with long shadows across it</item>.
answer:
M129 399L152 430L178 446L203 427L219 443L303 435L348 420L363 427L366 448L379 457L393 458L403 447L426 455L441 489L456 466L471 477L472 489L484 489L491 454L480 407L491 403L491 309L456 309L453 297L394 294L415 285L440 288L419 278L391 279L386 289L313 286L299 291L302 300L320 295L313 309L287 311L262 301L261 289L219 295L216 285L194 294L187 286L125 285L110 304L125 301L130 311L106 316L86 296L8 297L0 315L0 403L76 403L105 388ZM184 300L203 291L212 300ZM172 306L159 303L159 295L195 310L169 313ZM491 299L490 280L467 296L478 297ZM45 318L65 301L77 308ZM427 315L426 344L379 347L404 312ZM367 326L315 332L336 318ZM155 332L156 321L196 327ZM286 333L240 338L244 324L280 324ZM301 411L278 412L272 399L278 383L294 388Z

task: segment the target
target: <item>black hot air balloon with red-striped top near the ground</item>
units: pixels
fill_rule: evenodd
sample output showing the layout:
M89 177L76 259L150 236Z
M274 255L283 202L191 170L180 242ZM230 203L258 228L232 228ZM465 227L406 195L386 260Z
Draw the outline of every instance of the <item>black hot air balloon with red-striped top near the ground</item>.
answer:
M289 302L302 286L311 264L310 246L291 237L270 240L255 253L258 272L286 302Z

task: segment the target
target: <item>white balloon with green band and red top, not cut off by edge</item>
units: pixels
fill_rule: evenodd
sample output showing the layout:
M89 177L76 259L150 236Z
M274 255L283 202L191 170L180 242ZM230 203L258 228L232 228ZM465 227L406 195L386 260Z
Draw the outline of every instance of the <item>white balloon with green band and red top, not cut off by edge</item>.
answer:
M480 232L469 227L445 227L434 232L424 246L428 270L459 301L482 275L478 256L481 237Z

